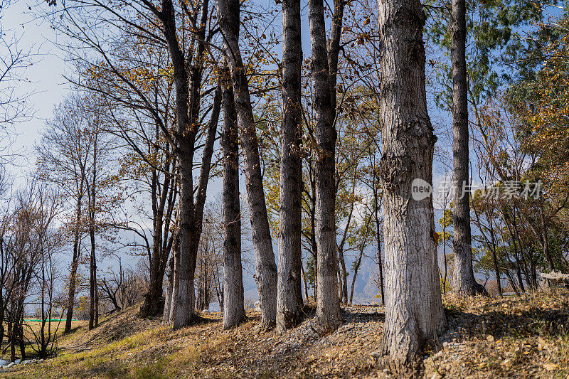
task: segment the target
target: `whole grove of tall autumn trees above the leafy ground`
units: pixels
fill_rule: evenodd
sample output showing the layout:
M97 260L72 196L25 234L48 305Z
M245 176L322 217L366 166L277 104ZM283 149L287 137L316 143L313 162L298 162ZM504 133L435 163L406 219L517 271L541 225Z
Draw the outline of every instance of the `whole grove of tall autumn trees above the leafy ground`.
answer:
M18 81L35 58L0 27L0 348L12 361L26 346L55 351L53 319L95 329L134 305L180 329L217 302L223 329L238 327L249 274L260 329L294 329L314 308L328 333L371 272L378 349L412 375L445 331L444 296L522 294L540 272L569 271L566 4L34 11L65 52L70 92L14 151L33 113ZM41 328L26 332L33 312Z

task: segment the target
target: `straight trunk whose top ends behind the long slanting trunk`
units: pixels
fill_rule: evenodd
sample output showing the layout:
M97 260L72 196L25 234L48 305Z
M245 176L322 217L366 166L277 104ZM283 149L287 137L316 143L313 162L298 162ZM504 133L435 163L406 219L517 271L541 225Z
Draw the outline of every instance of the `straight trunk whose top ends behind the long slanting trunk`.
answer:
M229 70L221 73L223 87L223 329L245 321L241 267L238 119Z

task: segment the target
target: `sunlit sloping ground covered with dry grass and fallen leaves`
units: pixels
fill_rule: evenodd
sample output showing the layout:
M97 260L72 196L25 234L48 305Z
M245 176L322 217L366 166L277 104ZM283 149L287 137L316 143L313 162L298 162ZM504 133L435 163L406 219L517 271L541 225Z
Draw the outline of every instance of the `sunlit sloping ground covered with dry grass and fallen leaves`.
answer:
M569 292L445 299L448 331L425 353L425 378L569 378ZM378 348L381 306L346 306L344 324L319 336L307 319L287 333L229 331L218 314L179 331L137 307L78 326L43 363L0 370L3 378L390 378Z

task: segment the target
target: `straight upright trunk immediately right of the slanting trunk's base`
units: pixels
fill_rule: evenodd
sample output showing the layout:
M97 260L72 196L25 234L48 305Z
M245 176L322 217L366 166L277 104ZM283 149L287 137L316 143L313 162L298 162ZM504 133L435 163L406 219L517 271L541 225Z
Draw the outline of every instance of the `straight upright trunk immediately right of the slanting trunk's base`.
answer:
M282 1L282 105L277 328L302 316L302 41L300 0Z

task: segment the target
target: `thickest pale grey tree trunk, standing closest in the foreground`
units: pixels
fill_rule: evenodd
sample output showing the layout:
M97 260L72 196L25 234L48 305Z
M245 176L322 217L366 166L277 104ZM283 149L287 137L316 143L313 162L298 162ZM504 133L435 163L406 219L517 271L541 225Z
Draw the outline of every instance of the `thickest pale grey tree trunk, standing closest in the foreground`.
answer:
M381 350L392 370L408 375L422 360L422 346L446 324L432 198L415 201L411 194L413 179L432 183L436 137L427 114L421 3L379 0L378 8L386 273Z

